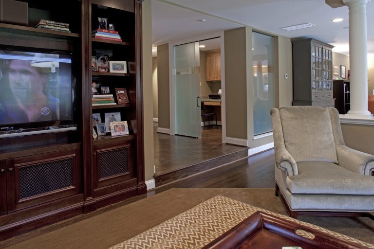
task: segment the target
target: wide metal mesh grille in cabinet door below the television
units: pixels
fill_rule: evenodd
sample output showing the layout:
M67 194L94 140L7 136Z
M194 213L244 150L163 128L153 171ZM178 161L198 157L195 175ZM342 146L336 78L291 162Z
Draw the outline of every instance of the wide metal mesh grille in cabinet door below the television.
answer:
M73 160L64 159L19 168L19 199L73 185Z

